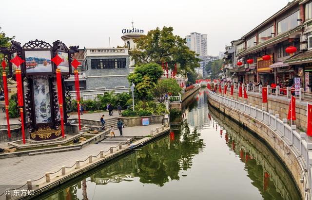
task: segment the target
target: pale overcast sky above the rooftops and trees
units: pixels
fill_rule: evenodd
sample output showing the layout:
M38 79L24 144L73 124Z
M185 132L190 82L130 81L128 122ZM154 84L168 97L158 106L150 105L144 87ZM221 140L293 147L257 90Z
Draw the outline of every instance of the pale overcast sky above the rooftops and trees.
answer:
M185 37L208 34L208 54L218 55L225 45L240 38L284 7L289 0L2 0L0 26L22 44L33 39L67 46L123 45L121 30L145 32L172 26Z

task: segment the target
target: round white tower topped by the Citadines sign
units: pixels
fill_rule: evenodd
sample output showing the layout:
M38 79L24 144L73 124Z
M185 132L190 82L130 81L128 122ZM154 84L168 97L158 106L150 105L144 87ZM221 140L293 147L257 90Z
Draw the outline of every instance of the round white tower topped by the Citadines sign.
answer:
M122 29L122 36L121 39L124 41L125 45L128 47L128 49L134 49L137 44L134 42L134 39L140 38L141 35L145 35L144 34L144 30L143 29L137 29L134 28L133 23L132 23L132 27L130 29ZM134 71L134 67L135 67L135 61L132 60L132 58L130 57L130 63L129 63L129 70L130 73L133 73Z

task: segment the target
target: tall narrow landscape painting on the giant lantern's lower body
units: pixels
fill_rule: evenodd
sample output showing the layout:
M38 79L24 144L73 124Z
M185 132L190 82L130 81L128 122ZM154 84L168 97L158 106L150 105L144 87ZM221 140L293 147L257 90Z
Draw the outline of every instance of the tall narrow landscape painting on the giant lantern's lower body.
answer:
M34 79L33 83L36 123L51 122L49 81L47 79Z

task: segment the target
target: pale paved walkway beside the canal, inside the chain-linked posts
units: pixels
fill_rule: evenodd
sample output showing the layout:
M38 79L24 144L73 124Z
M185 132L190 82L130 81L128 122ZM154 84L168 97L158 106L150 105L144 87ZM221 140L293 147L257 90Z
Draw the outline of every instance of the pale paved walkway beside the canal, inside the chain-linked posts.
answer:
M146 136L150 134L151 130L155 130L156 127L161 127L161 124L127 127L123 129L123 135ZM118 130L116 133L118 135ZM116 145L91 144L81 150L1 159L0 183L2 185L24 184L28 179L35 180L42 177L45 172L58 171L63 165L71 167L76 160L85 160L88 155L97 155L100 150L109 150L110 146ZM58 173L60 174L61 172ZM2 185L0 186L0 193L3 191Z

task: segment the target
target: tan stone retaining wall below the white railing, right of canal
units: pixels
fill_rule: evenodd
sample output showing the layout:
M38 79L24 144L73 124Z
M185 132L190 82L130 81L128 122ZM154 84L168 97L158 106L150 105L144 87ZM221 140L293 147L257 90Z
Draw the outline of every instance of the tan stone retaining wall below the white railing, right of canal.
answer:
M308 181L310 180L309 175L307 173L303 174L297 155L293 150L290 149L290 147L283 141L283 139L262 121L254 118L251 120L251 117L248 114L242 113L233 107L228 107L225 104L219 101L215 101L211 98L209 98L209 103L215 109L219 110L226 116L231 117L234 121L247 127L260 138L262 138L290 170L292 177L299 188L302 199L305 199L305 187L304 183L300 182L300 179L304 177L308 182L308 185L310 185L310 182Z

